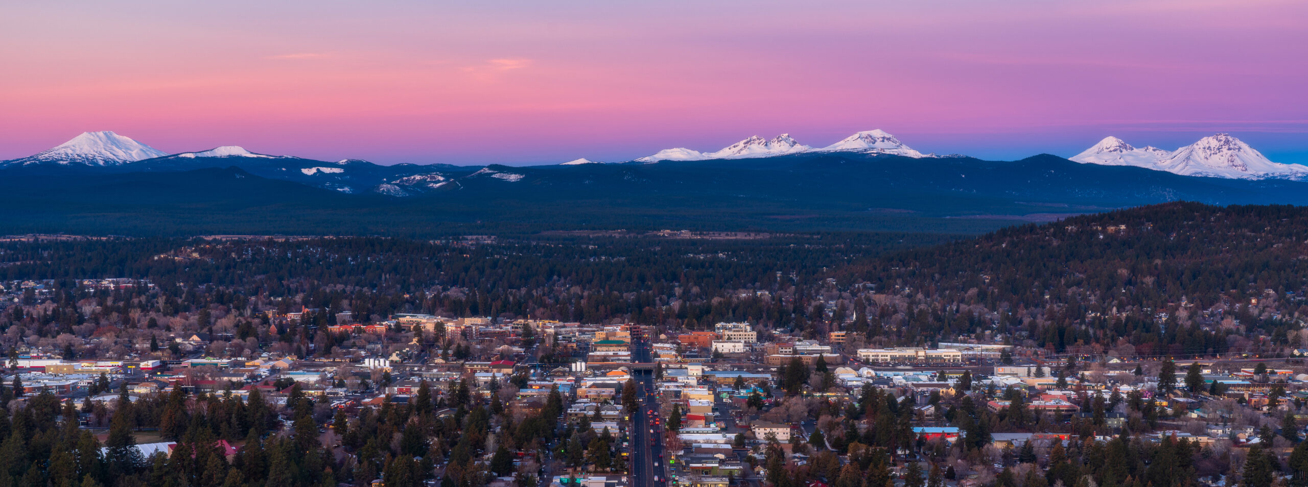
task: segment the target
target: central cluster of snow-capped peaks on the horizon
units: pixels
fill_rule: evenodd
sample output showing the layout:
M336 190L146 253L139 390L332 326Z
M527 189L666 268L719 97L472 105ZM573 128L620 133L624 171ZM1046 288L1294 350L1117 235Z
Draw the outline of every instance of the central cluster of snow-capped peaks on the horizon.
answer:
M935 154L922 154L913 150L913 148L904 145L904 142L900 142L899 138L895 138L895 136L887 133L886 131L875 129L858 132L853 136L845 137L840 142L821 149L802 145L791 138L789 133L782 133L770 140L753 136L713 153L701 153L685 148L664 149L658 154L636 159L636 162L742 159L806 151L858 151L865 154L891 154L913 158L938 157Z

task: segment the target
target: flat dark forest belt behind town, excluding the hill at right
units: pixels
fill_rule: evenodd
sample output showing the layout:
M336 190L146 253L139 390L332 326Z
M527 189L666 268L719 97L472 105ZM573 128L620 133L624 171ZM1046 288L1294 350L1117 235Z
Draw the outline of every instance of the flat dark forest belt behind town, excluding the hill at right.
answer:
M532 236L475 244L391 238L3 243L0 281L52 279L56 306L33 328L55 334L88 320L118 322L211 306L241 309L251 299L281 296L301 296L298 303L310 308L349 307L364 321L451 312L787 326L793 307L808 300L794 295L812 292L808 283L849 262L946 239L804 234L740 240ZM115 277L150 279L158 290L88 292L76 282ZM61 311L88 298L105 300L90 317ZM289 300L285 307L294 309ZM67 324L65 317L81 321Z

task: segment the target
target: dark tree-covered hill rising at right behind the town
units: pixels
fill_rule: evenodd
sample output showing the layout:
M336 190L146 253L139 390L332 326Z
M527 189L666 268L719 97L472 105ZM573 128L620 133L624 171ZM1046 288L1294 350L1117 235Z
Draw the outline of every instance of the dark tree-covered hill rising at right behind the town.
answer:
M1257 353L1303 345L1305 239L1304 208L1173 202L905 251L852 266L841 281L875 290L865 296L880 306L870 326L899 341L961 334L1059 354Z

